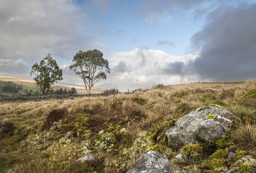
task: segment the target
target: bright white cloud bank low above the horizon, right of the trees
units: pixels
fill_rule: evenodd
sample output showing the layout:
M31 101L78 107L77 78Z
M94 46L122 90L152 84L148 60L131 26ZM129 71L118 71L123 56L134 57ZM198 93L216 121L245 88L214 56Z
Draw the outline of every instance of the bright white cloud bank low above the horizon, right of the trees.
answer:
M181 64L196 59L196 55L172 56L161 50L137 48L127 52L108 53L105 58L110 67L107 83L116 82L119 89L126 90L127 86L130 86L129 89L136 89L156 83L178 84L181 80L188 82L189 74L182 75L184 72Z

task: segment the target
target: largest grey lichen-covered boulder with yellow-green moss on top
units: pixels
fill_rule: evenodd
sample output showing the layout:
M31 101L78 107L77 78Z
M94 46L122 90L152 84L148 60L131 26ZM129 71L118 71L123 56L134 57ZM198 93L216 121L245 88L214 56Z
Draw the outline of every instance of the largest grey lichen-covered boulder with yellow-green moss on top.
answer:
M202 106L180 117L165 134L176 148L223 138L232 126L242 125L239 117L220 106Z

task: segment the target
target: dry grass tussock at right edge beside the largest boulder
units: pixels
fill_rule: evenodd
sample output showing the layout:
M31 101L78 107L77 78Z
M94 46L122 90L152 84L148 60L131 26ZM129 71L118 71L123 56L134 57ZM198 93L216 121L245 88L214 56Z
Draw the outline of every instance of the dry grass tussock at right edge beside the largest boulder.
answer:
M233 142L249 150L256 148L256 126L246 123L232 133Z

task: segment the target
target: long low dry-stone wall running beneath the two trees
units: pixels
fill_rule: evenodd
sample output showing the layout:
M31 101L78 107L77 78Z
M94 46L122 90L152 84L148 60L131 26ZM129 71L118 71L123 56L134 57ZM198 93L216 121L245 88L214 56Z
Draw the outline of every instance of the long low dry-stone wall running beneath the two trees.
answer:
M104 93L100 94L64 94L64 95L46 95L46 96L34 96L34 97L7 97L0 98L0 102L14 102L14 101L41 101L48 99L73 99L74 97L90 97L90 96L105 96Z

